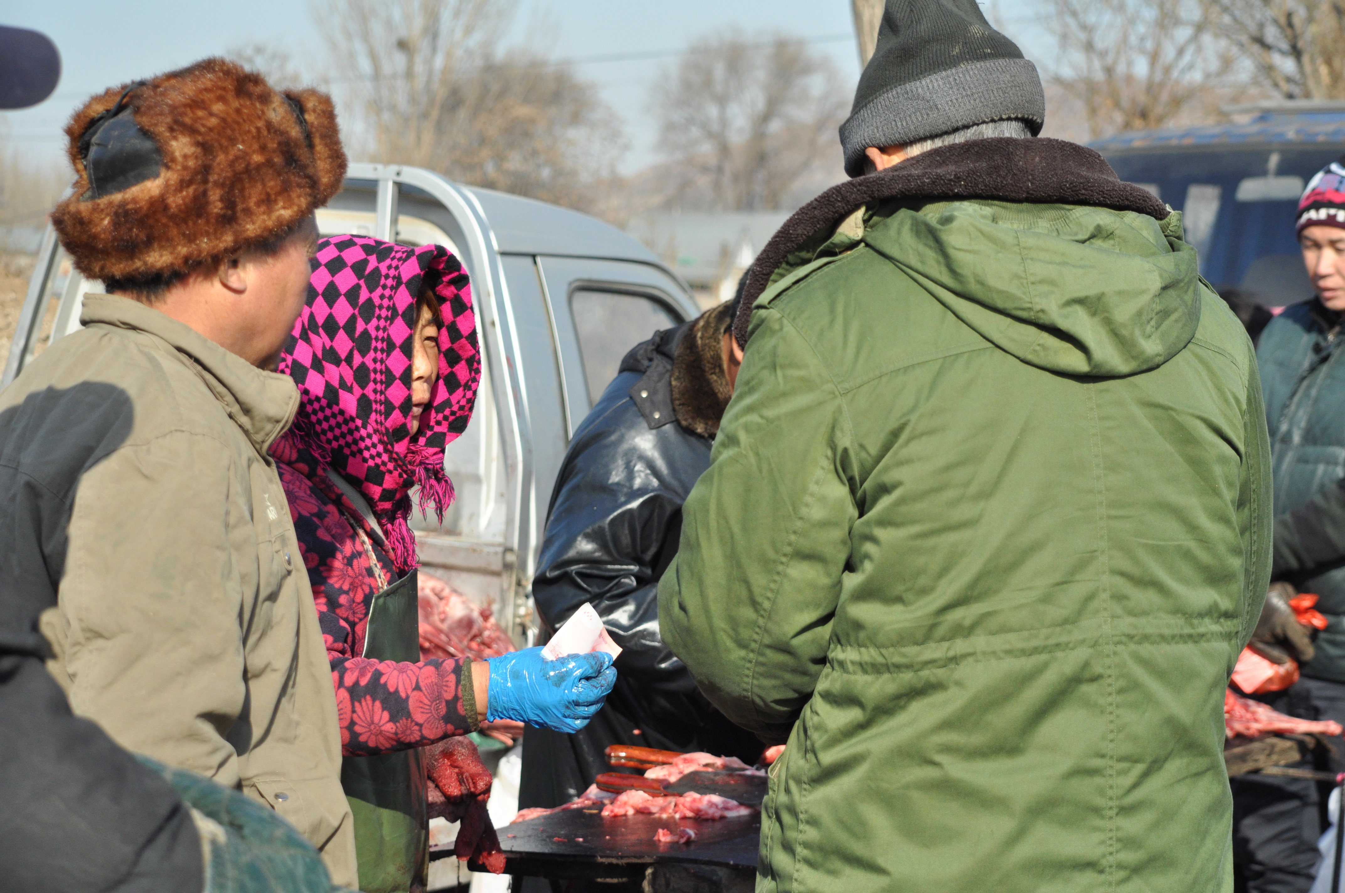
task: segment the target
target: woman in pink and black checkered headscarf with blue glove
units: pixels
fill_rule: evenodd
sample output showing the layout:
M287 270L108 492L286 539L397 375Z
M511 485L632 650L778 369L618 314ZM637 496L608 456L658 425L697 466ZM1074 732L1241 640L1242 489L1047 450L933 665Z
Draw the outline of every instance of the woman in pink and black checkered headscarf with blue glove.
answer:
M487 718L582 728L616 671L607 655L545 662L541 648L421 660L410 491L440 518L453 500L444 448L482 373L467 273L438 245L321 239L280 371L300 405L272 455L331 659L360 889L425 888L428 800L463 819L457 857L498 871L491 776L460 736Z

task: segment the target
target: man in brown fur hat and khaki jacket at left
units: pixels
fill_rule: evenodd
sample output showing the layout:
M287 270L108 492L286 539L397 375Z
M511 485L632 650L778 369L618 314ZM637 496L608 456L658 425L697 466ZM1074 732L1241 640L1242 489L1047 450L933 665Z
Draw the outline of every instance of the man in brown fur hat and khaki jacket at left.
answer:
M327 655L266 455L299 402L268 370L346 171L331 100L207 59L66 133L52 225L108 293L0 394L4 624L46 637L77 714L269 806L354 886Z

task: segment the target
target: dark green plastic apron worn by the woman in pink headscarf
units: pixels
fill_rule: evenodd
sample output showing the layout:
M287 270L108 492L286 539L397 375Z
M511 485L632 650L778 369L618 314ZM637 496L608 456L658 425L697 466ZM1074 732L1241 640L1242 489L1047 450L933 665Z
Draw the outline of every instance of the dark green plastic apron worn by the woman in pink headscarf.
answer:
M355 504L360 506L362 502ZM373 547L363 531L358 527L355 530L370 553L379 582L383 582ZM420 607L414 570L374 596L362 656L410 663L420 660ZM412 749L346 757L342 760L340 783L355 815L359 889L363 893L424 890L429 884L429 819L421 752Z

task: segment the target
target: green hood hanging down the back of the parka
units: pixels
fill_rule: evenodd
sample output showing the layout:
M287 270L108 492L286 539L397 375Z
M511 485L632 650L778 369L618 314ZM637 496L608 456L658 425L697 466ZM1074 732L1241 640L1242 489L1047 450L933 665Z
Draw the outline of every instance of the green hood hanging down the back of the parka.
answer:
M1200 323L1196 250L1176 212L1159 223L1099 207L943 202L873 219L863 241L982 338L1053 373L1157 368Z

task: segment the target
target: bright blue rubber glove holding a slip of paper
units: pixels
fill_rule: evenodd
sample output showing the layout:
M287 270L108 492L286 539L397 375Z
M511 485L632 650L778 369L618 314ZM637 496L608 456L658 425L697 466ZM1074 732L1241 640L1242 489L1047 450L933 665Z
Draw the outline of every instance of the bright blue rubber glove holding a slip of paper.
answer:
M486 663L491 664L486 718L553 732L586 726L616 685L612 655L601 651L546 660L541 648L525 648Z

